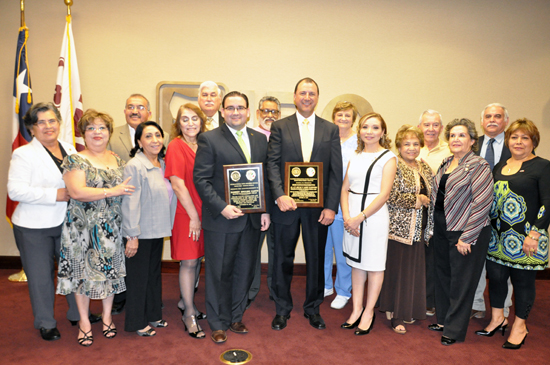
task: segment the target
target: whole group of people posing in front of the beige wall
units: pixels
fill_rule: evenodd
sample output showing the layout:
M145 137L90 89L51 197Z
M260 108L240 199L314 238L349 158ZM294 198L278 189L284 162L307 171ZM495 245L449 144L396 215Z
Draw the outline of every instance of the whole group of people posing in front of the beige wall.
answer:
M370 333L379 307L396 333L435 313L429 329L442 332L441 343L463 341L470 317L481 313L472 304L486 263L492 316L476 334L504 334L510 278L516 318L504 347L521 347L536 270L548 265L550 162L534 154L540 135L533 122L506 129L506 108L490 104L481 114L484 136L472 121L455 119L443 142L441 115L427 110L418 127L398 130L396 155L380 114L361 116L355 127L356 107L340 102L331 123L315 115L318 98L317 83L304 78L294 90L295 114L279 119L280 102L267 96L259 126L248 128L247 96L232 91L222 99L207 81L198 106L178 109L168 138L149 121L147 99L134 94L124 109L127 125L113 129L107 114L84 113L78 129L86 148L79 152L58 141L55 106L35 104L24 119L33 140L13 153L8 193L19 202L14 235L42 337L60 337L55 292L67 297L67 318L83 346L92 345L97 321L106 338L116 336L112 313L124 303L126 331L150 337L166 327L160 267L168 236L180 262L178 309L191 337L206 337L203 319L215 343L228 331L248 332L243 315L259 291L264 239L276 309L271 327L283 330L301 234L303 310L312 327L326 328L319 308L335 289L331 307L351 299L341 327L356 335ZM322 207L298 206L285 194L287 162L322 163ZM226 201L224 166L249 163L263 165L263 213ZM194 303L203 257L206 313ZM90 299L102 300L100 316L90 314Z

